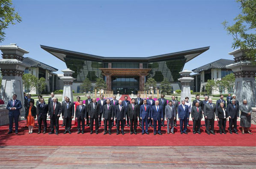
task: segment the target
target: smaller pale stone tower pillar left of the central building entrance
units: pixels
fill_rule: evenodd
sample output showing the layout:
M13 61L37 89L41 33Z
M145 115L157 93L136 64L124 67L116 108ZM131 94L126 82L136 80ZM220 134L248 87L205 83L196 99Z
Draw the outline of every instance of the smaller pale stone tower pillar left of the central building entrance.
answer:
M61 72L64 73L64 76L60 77L60 79L63 80L63 83L64 83L62 101L64 101L65 96L68 96L71 103L73 103L74 99L73 99L72 84L75 78L72 77L72 74L74 73L74 71L70 69L65 69L65 70L62 70Z

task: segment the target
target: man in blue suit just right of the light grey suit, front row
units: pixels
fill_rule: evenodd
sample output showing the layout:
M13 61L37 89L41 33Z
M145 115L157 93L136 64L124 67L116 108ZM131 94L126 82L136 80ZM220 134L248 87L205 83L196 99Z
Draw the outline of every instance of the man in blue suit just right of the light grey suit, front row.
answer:
M188 106L185 105L185 100L182 100L182 104L178 106L178 117L181 134L188 134L187 131L187 120L189 117ZM184 126L184 129L183 129Z

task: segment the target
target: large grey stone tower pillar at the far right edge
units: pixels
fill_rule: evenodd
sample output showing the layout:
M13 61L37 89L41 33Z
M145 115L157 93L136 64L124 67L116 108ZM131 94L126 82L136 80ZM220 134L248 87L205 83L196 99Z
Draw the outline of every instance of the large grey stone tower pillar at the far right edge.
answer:
M235 74L234 94L239 104L246 99L251 107L256 107L256 66L253 66L250 58L246 57L245 52L237 49L229 53L235 58L235 63L227 65L227 69L232 69Z

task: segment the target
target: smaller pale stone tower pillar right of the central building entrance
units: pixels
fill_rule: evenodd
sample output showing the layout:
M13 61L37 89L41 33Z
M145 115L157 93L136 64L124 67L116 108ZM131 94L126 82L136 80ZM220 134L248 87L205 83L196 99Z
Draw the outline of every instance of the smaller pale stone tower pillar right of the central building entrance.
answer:
M189 102L191 102L191 91L190 91L190 82L194 80L193 77L190 77L191 71L185 69L182 72L179 72L181 74L181 78L178 80L182 83L182 93L181 93L181 100L185 100L185 97L189 98Z

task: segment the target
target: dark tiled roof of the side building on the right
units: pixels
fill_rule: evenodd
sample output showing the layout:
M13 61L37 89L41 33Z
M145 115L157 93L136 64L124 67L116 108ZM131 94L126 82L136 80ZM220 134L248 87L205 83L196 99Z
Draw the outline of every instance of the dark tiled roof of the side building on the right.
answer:
M199 68L193 69L192 71L194 73L198 73L198 72L202 72L209 69L226 69L226 66L232 63L235 63L235 61L228 60L228 59L220 59L220 60L216 60L214 62L208 63L204 66L201 66Z

